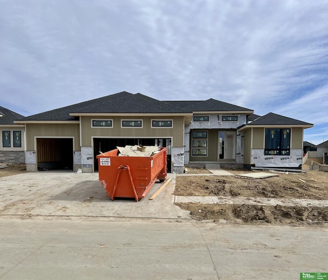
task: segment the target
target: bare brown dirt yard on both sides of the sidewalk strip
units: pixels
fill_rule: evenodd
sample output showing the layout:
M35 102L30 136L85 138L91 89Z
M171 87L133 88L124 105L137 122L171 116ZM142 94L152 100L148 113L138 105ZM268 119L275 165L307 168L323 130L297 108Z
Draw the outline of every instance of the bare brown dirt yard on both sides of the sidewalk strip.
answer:
M206 170L206 169L205 169ZM207 173L188 170L188 173ZM226 169L235 176L176 177L176 196L221 196L253 198L287 198L328 200L328 173L275 173L279 177L248 179L238 174L258 171ZM265 171L270 173L270 171ZM230 223L322 224L328 222L328 207L299 207L237 204L176 203L189 210L195 220L227 221Z

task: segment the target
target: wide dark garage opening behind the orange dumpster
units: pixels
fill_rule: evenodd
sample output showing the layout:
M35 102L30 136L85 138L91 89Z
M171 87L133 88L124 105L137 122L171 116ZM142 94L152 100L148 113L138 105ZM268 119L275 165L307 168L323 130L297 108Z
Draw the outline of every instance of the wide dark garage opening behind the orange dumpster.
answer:
M96 155L99 151L105 153L109 150L116 149L117 146L125 147L126 145L144 145L159 146L167 148L167 167L171 172L171 138L94 138L93 154L94 154L94 170L98 171L98 161Z

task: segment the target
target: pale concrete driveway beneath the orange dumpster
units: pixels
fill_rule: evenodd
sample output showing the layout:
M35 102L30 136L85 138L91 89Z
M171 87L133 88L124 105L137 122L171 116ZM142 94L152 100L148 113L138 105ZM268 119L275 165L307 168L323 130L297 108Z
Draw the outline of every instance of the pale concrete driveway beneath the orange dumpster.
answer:
M53 217L126 217L190 219L189 211L173 204L172 181L154 200L162 183L155 183L146 198L115 199L98 181L97 173L42 171L0 178L0 215Z

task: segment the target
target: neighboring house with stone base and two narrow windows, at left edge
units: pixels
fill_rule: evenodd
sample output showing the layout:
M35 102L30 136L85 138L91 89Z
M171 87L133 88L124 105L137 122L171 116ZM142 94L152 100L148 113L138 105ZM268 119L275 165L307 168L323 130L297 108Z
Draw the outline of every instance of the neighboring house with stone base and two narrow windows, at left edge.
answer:
M0 106L0 163L25 163L25 129L14 120L24 116Z

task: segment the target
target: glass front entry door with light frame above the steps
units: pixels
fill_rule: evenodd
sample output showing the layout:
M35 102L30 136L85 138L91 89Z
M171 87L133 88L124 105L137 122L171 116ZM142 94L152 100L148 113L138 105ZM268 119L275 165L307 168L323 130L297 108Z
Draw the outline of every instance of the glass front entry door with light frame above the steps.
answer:
M219 131L218 160L236 159L236 132Z

